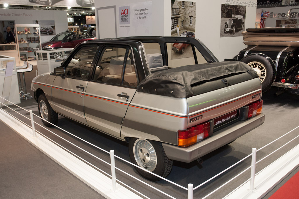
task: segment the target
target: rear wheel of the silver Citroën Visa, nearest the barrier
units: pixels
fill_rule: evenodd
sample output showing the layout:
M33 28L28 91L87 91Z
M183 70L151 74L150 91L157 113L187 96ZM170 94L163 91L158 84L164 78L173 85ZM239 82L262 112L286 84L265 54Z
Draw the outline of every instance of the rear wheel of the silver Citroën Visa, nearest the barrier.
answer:
M152 147L154 150L149 152L147 147ZM167 158L161 142L131 138L129 141L129 154L132 163L142 166L144 169L163 178L168 176L172 169L173 160ZM137 167L135 167L135 169L142 177L150 181L161 180L161 178L145 172L142 169L138 169Z

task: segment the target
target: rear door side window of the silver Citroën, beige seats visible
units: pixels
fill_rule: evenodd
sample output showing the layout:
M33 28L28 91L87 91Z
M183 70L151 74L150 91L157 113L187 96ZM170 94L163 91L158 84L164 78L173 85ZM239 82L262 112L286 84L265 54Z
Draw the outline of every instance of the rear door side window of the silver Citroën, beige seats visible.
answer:
M123 76L124 65L126 67ZM124 47L104 47L101 58L96 65L93 80L137 87L131 50Z

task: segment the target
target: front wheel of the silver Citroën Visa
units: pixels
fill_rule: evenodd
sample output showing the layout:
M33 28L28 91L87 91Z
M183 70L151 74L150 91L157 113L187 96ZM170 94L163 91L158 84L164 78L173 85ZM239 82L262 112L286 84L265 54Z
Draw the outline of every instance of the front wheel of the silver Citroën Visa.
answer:
M50 106L45 94L39 95L38 98L38 112L39 116L41 118L44 118L48 122L51 122L52 124L57 124L58 122L58 113L54 112L52 107ZM42 120L45 126L51 127L53 126L52 124Z

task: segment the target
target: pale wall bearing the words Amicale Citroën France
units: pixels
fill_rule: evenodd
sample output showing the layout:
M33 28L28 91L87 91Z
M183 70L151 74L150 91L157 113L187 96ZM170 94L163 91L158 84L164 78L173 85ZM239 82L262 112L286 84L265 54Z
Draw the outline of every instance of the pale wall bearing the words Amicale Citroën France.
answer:
M0 9L0 20L15 21L15 24L32 24L34 20L54 20L56 34L68 29L66 11ZM49 41L53 35L42 35L41 42Z

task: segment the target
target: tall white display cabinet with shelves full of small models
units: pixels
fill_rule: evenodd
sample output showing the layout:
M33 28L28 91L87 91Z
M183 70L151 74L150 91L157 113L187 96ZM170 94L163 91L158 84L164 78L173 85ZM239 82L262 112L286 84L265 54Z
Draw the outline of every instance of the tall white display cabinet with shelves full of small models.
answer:
M39 24L16 24L15 30L19 64L36 60L35 51L42 49Z

